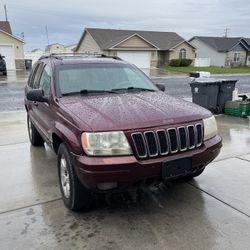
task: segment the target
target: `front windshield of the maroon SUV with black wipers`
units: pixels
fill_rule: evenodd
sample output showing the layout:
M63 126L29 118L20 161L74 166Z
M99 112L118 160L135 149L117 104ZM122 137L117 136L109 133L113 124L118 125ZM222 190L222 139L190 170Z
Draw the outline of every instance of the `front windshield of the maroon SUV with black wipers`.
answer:
M157 90L140 70L125 64L58 65L56 74L57 93L62 96Z

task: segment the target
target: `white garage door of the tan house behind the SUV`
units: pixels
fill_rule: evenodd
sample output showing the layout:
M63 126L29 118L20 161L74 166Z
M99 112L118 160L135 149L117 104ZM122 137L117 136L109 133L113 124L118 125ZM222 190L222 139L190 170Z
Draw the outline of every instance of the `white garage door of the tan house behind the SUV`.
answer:
M138 68L150 68L151 52L145 51L118 51L117 56L123 60L135 64Z

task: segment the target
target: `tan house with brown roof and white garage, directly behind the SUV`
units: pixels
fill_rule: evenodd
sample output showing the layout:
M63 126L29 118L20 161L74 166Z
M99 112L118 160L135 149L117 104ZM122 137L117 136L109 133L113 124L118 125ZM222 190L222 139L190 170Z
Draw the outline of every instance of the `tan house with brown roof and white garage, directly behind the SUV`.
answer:
M75 52L118 56L139 68L159 67L172 59L195 58L195 47L175 32L86 28Z

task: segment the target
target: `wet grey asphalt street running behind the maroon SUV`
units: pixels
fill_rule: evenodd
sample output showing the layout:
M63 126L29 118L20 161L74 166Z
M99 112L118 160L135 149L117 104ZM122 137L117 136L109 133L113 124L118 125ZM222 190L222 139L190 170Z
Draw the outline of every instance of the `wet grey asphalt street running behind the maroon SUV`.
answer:
M27 82L29 72L19 72L16 75L9 73L8 78L0 76L0 112L24 110L24 86ZM190 78L187 76L169 76L153 78L156 83L166 86L166 93L179 98L190 98ZM222 76L220 79L238 79L236 87L239 93L250 93L250 75L247 76Z

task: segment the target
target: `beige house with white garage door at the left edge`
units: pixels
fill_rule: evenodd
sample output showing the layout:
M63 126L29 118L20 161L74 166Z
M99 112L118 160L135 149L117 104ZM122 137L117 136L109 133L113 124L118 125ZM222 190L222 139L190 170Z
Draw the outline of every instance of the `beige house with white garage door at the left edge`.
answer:
M0 54L5 56L7 70L25 69L24 41L12 34L8 21L0 21Z

